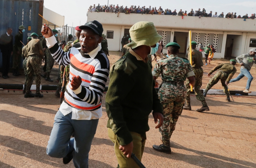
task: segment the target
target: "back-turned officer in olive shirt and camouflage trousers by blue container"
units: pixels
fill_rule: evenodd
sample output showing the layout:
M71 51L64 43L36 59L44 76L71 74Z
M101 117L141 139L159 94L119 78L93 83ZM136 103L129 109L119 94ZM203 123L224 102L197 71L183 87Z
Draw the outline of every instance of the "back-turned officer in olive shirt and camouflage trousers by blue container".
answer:
M27 87L24 95L27 97L43 97L40 94L40 83L41 83L41 60L44 60L44 51L38 35L31 33L31 41L27 45ZM36 94L30 93L31 84L33 83L33 75L35 74L36 80Z

